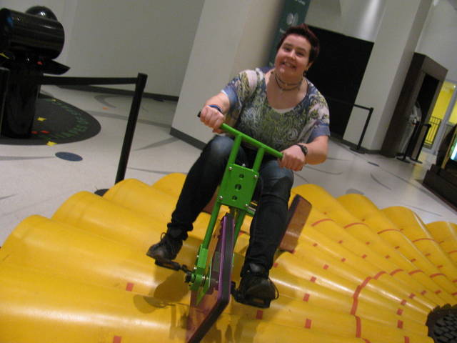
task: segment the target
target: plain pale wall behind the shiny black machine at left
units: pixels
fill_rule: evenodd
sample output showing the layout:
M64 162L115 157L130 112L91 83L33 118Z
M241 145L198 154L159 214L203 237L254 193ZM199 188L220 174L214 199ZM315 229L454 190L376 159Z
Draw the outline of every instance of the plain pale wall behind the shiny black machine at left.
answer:
M2 0L0 6L25 11L37 2L64 25L57 61L70 66L65 76L142 72L146 91L179 95L204 0Z

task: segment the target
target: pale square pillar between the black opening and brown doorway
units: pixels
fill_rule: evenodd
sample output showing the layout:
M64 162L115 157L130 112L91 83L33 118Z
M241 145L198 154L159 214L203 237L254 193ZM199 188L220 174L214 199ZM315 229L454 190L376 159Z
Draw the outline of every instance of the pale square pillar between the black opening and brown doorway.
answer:
M432 0L386 0L385 11L356 104L373 107L362 146L379 150L400 95ZM341 66L344 68L344 66ZM345 141L357 144L368 111L353 109Z

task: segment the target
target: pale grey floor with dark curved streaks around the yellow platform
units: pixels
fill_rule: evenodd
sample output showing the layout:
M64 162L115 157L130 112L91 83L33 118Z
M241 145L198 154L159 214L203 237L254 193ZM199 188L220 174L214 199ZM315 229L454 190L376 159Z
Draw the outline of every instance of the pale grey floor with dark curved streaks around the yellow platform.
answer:
M51 217L72 194L95 192L114 184L131 97L44 86L55 96L94 116L101 131L76 143L0 145L0 245L31 214ZM186 173L199 154L169 134L176 103L143 99L126 178L152 184L171 172ZM196 121L199 125L199 121ZM71 152L81 161L66 161L57 152ZM421 185L435 156L422 153L423 164L406 164L373 154L356 154L331 141L328 159L296 173L295 186L318 184L334 197L365 194L379 208L405 206L424 222L457 223L457 213Z

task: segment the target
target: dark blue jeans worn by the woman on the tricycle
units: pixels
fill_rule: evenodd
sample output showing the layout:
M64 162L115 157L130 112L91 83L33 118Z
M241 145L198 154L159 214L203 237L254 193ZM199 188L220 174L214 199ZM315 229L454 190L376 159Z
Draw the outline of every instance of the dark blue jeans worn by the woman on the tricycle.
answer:
M227 136L215 136L206 144L187 174L176 209L171 215L167 230L171 237L187 238L187 232L193 229L195 219L221 183L232 146L233 139ZM255 157L256 151L241 146L236 163L251 167ZM293 172L280 168L276 158L268 154L263 157L258 172L261 190L251 224L245 266L253 262L269 270L286 229Z

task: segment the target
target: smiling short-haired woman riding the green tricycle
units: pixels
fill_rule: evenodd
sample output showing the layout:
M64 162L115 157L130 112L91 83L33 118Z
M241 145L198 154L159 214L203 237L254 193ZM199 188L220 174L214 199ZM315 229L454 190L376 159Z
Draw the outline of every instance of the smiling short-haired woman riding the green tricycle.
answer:
M242 71L201 109L200 120L214 132L221 133L219 127L226 122L283 153L280 161L264 156L259 169L261 195L236 292L236 300L245 304L268 307L276 298L268 272L286 229L292 171L326 159L328 106L305 77L318 51L318 39L308 26L291 26L278 44L273 69ZM205 146L186 177L166 234L148 256L176 258L192 223L221 182L232 144L229 136L215 136ZM255 154L242 146L237 161L252 166Z

